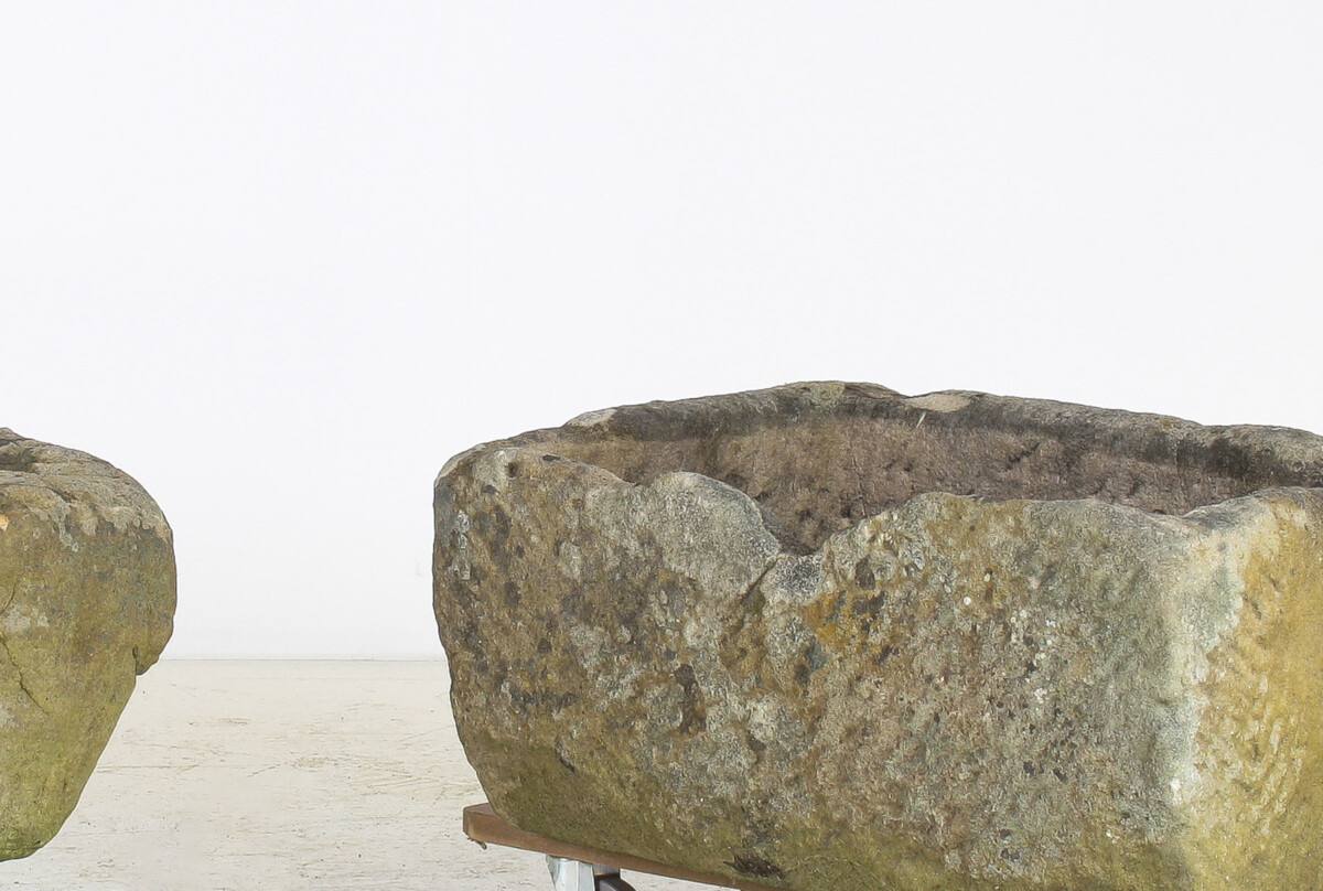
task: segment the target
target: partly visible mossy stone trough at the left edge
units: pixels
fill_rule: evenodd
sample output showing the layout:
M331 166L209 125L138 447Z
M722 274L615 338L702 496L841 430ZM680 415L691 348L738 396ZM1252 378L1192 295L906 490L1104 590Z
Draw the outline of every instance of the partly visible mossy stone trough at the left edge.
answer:
M60 830L173 612L171 530L151 496L0 428L0 859Z

